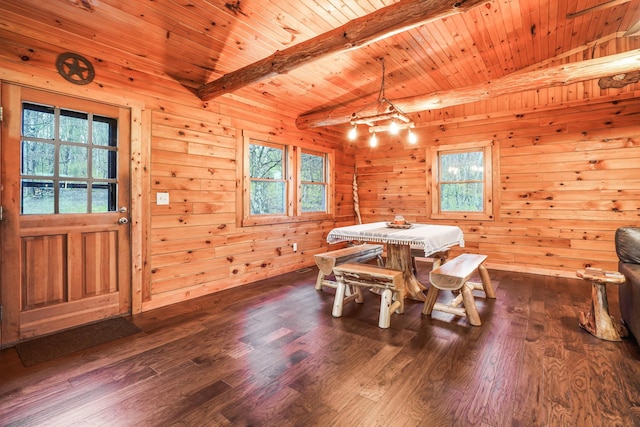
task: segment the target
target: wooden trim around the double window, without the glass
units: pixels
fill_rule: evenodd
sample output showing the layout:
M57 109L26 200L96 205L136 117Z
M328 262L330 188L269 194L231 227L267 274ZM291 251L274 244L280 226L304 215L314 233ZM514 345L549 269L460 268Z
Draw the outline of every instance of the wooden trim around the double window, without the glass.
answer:
M242 191L237 192L236 205L239 213L237 217L237 225L241 227L250 227L256 225L269 225L291 222L304 222L331 219L334 217L334 176L335 152L332 149L322 146L305 144L297 141L295 144L285 141L283 138L266 135L258 132L243 130L242 135L238 138L239 149L237 161L242 165L238 168L242 171L239 174L239 186ZM280 146L285 148L285 173L286 176L286 201L285 213L279 215L251 215L251 179L249 173L249 145L263 144L271 146ZM301 164L302 151L312 152L314 154L324 154L326 159L326 211L325 212L302 212L301 194L302 194L302 171Z

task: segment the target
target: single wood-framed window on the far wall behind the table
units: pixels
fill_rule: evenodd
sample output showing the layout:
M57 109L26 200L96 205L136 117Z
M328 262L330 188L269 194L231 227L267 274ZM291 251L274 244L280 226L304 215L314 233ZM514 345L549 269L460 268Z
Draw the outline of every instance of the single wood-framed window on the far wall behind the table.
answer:
M431 217L494 219L494 144L469 142L431 147Z

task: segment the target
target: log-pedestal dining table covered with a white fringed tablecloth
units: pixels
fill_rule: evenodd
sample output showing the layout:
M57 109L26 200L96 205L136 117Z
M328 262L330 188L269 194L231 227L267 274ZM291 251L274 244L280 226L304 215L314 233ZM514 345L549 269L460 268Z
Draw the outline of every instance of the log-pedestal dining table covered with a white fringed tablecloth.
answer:
M424 256L428 258L454 246L464 247L464 234L460 227L452 225L383 221L337 227L327 235L330 244L352 241L384 244L387 253L385 267L401 270L405 295L424 301L426 287L415 276L411 249L424 250Z

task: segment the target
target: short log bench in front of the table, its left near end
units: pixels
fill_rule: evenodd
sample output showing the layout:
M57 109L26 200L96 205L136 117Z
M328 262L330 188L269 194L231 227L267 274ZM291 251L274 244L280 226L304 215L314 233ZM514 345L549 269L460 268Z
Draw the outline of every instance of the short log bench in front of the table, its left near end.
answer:
M333 268L336 276L336 295L333 300L333 317L342 316L345 304L351 301L364 302L362 288L381 291L378 327L386 329L391 325L391 315L404 313L404 284L401 270L393 270L371 264L346 263ZM347 294L348 289L353 292Z

